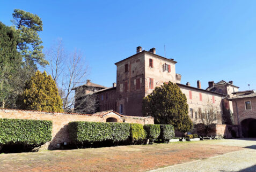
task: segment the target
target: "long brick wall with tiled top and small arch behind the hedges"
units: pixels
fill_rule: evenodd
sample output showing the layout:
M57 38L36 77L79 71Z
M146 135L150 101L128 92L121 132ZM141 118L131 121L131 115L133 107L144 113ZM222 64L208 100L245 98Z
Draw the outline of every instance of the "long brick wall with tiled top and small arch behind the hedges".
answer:
M72 113L49 113L23 110L0 110L0 118L7 119L29 119L29 120L50 120L53 121L53 139L42 146L42 149L54 150L57 144L70 143L68 137L68 123L71 121L106 122L114 118L117 122L153 124L151 117L123 116L113 111L100 112L97 114L72 114Z

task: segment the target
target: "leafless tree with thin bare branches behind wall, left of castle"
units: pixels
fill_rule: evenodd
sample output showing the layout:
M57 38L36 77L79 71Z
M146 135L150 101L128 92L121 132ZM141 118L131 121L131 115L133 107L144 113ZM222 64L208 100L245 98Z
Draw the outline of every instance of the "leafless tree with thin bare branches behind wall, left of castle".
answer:
M77 50L65 52L62 40L58 40L46 54L49 60L47 72L57 84L64 111L94 113L97 107L96 97L87 95L84 87L79 87L86 83L89 73L82 53Z

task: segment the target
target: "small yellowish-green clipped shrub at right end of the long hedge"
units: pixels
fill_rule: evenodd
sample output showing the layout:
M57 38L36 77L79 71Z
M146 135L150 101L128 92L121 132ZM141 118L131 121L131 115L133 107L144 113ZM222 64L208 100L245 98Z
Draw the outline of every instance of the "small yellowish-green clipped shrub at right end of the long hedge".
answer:
M147 134L143 128L143 125L139 123L130 123L131 142L143 141L145 138L147 138Z

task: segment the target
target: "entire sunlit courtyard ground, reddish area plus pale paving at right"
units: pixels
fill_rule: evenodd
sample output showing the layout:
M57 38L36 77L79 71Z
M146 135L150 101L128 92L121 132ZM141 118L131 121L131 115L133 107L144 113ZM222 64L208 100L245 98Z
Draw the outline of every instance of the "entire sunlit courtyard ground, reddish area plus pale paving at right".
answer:
M0 154L0 171L209 171L220 163L250 170L256 165L251 161L256 158L255 145L256 139L224 139ZM210 171L214 170L221 169Z

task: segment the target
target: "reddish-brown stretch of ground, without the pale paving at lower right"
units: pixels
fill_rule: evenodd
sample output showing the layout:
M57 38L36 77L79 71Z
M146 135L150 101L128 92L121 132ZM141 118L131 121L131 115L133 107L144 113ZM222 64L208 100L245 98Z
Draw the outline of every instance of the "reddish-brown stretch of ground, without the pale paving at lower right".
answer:
M0 171L147 171L242 150L203 140L154 145L0 154Z

